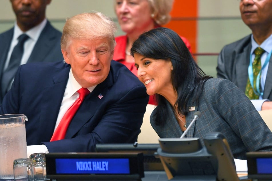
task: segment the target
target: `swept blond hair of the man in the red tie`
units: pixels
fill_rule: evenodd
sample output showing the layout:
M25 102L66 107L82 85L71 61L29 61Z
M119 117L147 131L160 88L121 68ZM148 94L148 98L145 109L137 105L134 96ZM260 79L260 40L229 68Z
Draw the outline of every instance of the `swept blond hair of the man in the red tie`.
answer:
M61 49L66 49L70 38L89 40L108 38L112 49L114 49L116 45L114 33L116 30L115 23L102 13L81 13L66 19L60 46Z

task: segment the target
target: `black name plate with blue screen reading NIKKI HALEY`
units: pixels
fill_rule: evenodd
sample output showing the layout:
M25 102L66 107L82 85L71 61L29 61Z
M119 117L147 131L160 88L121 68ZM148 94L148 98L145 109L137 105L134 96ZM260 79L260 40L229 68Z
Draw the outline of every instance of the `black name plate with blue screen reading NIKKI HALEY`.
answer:
M144 177L142 153L45 154L47 178L136 180Z

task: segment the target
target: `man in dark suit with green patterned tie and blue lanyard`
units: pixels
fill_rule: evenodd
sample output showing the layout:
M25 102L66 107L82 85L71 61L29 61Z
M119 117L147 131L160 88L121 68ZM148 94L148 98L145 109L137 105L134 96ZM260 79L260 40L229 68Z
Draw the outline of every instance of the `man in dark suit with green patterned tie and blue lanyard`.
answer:
M223 47L217 77L235 83L258 111L272 109L272 0L239 1L252 34Z

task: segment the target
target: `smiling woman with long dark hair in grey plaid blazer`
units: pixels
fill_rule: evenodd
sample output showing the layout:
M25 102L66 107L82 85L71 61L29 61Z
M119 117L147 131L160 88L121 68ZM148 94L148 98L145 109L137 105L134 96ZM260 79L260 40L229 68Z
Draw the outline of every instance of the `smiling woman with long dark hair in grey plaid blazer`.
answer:
M221 132L239 159L272 150L272 133L247 96L230 81L205 75L174 31L160 27L140 35L131 54L147 94L158 101L150 122L160 138L180 137L200 111L187 137L203 144L207 133Z

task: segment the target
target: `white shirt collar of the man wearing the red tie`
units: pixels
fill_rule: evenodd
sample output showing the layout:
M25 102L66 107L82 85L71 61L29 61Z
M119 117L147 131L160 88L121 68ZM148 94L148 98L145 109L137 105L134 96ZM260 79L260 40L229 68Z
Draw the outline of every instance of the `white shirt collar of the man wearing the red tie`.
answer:
M87 87L87 89L90 92L92 92L96 86L97 85L94 85L92 87ZM71 97L74 93L76 93L76 91L78 91L81 88L82 88L82 86L76 81L76 79L72 73L72 68L71 68L70 72L69 72L69 78L68 78L67 88L66 88L68 97Z

